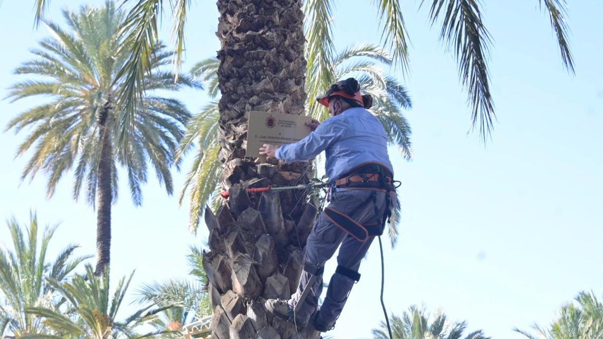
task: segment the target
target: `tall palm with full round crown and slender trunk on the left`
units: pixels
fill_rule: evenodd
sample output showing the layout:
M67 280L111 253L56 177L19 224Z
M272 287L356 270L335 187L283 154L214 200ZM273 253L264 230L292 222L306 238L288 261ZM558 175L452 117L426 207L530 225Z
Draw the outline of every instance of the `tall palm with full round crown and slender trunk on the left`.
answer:
M77 13L63 11L63 16L69 30L47 24L53 37L32 51L36 59L15 71L35 78L14 84L8 96L13 101L42 96L50 101L21 113L7 129L32 128L17 150L17 156L22 156L34 148L22 179L44 171L51 197L63 174L73 169L75 200L85 186L87 202L98 209L96 272L101 273L110 261L118 165L127 171L136 205L142 203L140 185L147 182L149 164L168 194L173 191L169 168L190 115L180 101L154 92L200 84L185 75L174 82L175 74L162 67L172 53L156 45L149 59L150 73L140 87L145 90L144 100L125 107L118 100L127 83L127 77L119 74L128 59L128 52L120 49L124 13L108 1L103 8L82 7ZM128 119L120 120L124 110Z

